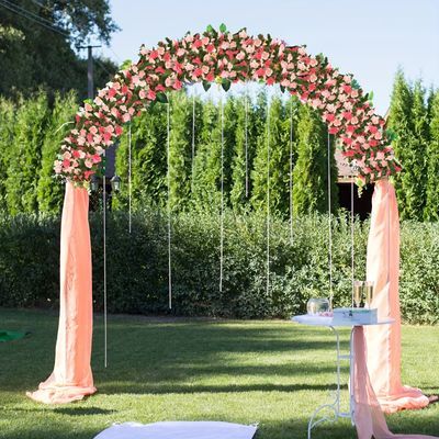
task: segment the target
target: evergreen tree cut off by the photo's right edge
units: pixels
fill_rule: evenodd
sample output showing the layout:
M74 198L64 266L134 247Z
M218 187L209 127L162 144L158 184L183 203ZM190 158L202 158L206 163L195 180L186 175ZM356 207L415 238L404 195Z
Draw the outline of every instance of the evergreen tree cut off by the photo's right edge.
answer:
M431 101L430 143L428 145L427 202L424 210L426 221L439 219L439 92Z

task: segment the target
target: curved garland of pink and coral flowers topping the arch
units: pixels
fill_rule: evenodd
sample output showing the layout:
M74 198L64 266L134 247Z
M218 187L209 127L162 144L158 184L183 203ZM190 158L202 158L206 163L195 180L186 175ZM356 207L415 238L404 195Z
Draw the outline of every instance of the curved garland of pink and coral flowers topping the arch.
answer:
M183 85L202 82L207 90L221 82L228 90L245 81L279 83L282 91L316 109L329 133L341 140L342 155L357 167L359 185L401 170L383 117L351 75L340 74L323 55L307 55L303 46L288 46L270 35L249 36L246 30L233 34L222 25L219 31L209 26L203 34L166 38L153 49L142 46L139 60L79 109L55 172L87 185L93 173L102 172L104 149L145 104L167 102L166 93Z

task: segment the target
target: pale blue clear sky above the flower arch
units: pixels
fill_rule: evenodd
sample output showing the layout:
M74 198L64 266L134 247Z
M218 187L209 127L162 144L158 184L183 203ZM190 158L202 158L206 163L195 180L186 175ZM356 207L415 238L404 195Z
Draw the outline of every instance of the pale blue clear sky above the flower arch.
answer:
M323 52L342 72L373 90L379 113L390 102L398 66L407 78L439 87L439 0L111 0L122 31L105 56L137 59L144 43L201 32L224 22L232 31L270 33Z

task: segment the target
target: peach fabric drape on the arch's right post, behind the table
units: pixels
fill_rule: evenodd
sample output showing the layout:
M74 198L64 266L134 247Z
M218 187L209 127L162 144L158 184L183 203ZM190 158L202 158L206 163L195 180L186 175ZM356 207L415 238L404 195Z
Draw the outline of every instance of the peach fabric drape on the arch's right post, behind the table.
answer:
M401 382L399 218L395 189L387 180L378 181L373 193L367 278L374 282L372 306L379 318L395 319L365 329L368 370L378 401L385 413L423 408L428 398Z

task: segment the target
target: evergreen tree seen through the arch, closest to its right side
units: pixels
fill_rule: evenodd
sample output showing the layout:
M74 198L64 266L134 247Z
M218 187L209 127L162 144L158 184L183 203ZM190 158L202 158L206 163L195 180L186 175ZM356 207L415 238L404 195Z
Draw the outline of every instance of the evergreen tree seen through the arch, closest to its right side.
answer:
M303 215L328 210L327 130L320 116L302 105L297 125L297 162L293 171L293 212ZM337 167L331 142L331 202L338 206Z

